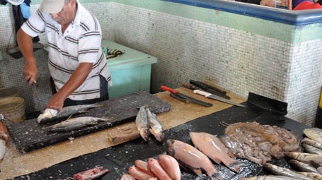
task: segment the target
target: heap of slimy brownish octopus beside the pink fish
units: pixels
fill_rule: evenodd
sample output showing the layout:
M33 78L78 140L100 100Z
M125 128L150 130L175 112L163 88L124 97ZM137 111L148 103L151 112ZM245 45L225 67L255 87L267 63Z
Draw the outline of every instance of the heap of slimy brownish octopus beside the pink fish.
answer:
M220 139L234 155L257 164L280 159L284 152L301 151L300 140L292 132L257 122L231 124Z

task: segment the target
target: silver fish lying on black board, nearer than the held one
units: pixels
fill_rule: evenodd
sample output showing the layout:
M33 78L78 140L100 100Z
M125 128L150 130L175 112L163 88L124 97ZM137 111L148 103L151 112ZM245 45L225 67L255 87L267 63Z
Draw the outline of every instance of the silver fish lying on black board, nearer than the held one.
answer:
M54 132L64 132L64 131L71 131L79 128L83 128L85 126L91 126L98 124L100 121L112 121L111 118L98 118L98 117L91 117L91 116L84 116L84 117L76 117L72 119L67 119L66 121L62 121L58 124L54 124L52 126L47 127L47 131L54 133Z

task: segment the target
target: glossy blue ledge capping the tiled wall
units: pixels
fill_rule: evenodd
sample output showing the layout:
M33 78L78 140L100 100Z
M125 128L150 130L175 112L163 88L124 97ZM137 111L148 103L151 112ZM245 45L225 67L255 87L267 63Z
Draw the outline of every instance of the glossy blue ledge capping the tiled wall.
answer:
M255 4L246 4L236 1L222 0L161 0L173 3L187 4L201 8L211 8L218 11L237 13L244 16L252 16L265 20L272 20L278 23L289 25L309 25L322 23L321 9L311 9L303 11L289 11L282 8L270 8Z

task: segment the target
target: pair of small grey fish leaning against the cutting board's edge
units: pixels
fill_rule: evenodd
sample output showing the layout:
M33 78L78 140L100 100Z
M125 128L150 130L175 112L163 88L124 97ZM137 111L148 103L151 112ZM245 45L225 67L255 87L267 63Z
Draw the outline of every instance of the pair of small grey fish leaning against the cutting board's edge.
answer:
M137 130L140 136L147 142L151 133L159 142L163 141L163 126L159 119L156 119L156 114L152 113L147 105L139 108L135 119Z

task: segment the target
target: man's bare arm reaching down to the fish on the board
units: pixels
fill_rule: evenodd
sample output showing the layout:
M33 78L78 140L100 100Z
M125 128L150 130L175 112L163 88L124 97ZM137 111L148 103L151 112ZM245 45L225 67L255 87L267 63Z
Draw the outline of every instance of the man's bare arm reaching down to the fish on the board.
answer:
M93 63L81 63L71 75L67 83L52 96L46 108L60 111L64 105L64 100L71 95L81 84L84 83L89 73L91 73Z

